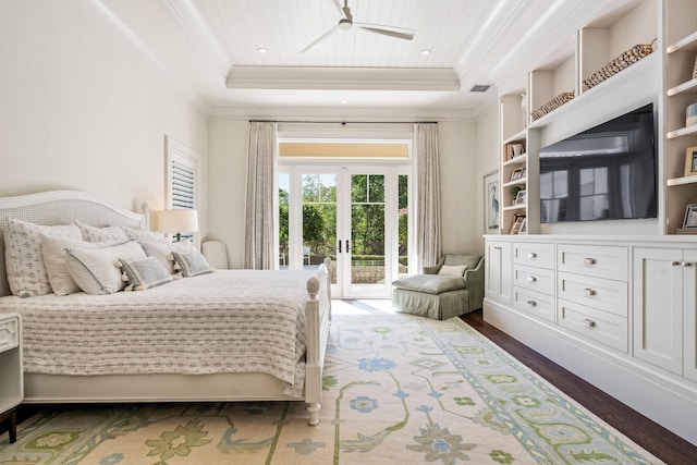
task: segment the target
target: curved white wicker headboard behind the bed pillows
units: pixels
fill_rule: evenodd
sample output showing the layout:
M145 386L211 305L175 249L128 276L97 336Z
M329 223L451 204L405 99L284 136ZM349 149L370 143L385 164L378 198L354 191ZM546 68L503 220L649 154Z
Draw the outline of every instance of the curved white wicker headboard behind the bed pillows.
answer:
M109 204L78 191L50 191L0 198L0 296L10 295L4 264L4 230L8 217L37 224L70 224L77 219L94 227L120 225L143 229L145 215Z

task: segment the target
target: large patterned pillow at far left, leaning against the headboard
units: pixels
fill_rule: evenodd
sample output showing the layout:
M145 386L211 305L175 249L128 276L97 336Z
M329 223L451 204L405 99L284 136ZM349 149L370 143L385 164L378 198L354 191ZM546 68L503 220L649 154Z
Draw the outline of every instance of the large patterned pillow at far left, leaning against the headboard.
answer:
M32 297L53 292L41 257L44 236L82 238L74 224L47 227L8 217L4 258L12 294Z

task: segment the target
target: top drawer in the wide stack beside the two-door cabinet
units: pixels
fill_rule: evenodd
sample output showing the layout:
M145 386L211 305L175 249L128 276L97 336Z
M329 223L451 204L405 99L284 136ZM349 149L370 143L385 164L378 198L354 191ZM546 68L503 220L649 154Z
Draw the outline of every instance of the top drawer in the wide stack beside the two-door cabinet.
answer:
M627 247L570 244L558 246L559 271L626 281L628 266Z

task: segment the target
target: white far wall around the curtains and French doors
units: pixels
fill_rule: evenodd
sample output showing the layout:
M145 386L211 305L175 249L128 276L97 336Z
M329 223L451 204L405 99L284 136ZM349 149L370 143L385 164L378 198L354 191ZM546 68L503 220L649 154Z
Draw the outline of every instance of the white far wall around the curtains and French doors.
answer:
M396 117L395 117L396 119ZM306 125L293 127L283 125L281 136L295 134L309 137L311 131ZM310 132L308 132L310 131ZM404 138L402 127L383 125L366 127L366 137L392 134ZM388 131L388 132L386 132ZM441 162L441 216L443 220L443 252L481 249L481 221L474 221L476 196L481 180L475 169L476 140L475 123L466 121L439 122L439 147ZM323 125L315 136L347 137L344 130ZM407 133L408 134L408 133ZM355 137L355 130L351 137ZM209 123L209 215L208 237L228 244L231 267L242 267L244 257L244 200L246 180L247 121L213 119Z

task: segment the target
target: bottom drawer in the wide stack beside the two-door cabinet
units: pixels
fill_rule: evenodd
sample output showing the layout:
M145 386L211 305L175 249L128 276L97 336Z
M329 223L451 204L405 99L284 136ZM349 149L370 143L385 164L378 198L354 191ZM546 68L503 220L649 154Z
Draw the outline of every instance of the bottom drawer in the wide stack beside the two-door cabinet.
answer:
M585 338L627 352L627 319L574 302L558 302L558 323Z

